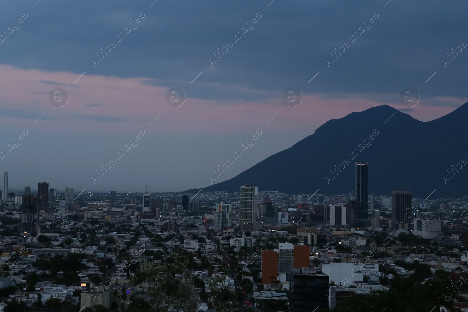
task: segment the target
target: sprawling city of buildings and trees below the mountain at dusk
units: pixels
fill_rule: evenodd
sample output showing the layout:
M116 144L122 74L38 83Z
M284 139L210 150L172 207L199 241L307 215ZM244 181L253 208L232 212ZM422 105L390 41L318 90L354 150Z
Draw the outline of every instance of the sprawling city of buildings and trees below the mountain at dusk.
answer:
M418 281L414 291L435 291L427 304L463 311L467 196L370 195L369 166L356 161L354 191L335 196L248 184L234 193L78 194L47 182L15 191L5 171L0 306L377 311L396 307L392 283Z

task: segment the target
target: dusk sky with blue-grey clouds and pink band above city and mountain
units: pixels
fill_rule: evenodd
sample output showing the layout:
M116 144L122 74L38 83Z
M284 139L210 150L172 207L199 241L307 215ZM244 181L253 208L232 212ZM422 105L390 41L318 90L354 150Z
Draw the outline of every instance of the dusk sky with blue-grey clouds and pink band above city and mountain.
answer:
M255 147L219 181L354 111L388 104L439 118L468 102L467 7L8 1L0 11L0 148L9 152L0 171L10 189L45 181L130 192L147 182L152 192L183 191L208 186L212 170L257 130ZM93 178L100 166L109 169Z

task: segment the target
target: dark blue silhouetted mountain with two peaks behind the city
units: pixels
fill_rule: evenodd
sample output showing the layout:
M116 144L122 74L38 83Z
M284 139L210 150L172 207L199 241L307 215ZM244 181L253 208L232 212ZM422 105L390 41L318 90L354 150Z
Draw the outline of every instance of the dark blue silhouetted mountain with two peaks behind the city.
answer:
M435 189L431 198L466 196L467 120L468 102L428 122L388 105L354 112L329 120L290 148L203 192L239 192L249 183L259 191L288 194L350 193L355 162L367 161L369 194L410 190L413 197L426 198Z

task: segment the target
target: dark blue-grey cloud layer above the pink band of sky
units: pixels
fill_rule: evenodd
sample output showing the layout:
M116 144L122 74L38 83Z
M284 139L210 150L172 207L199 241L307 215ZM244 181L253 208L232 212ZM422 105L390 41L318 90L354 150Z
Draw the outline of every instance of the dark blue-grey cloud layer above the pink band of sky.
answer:
M423 0L391 1L385 7L385 0L316 1L329 16L305 0L274 1L268 7L268 0L201 1L212 16L196 1L157 1L152 7L153 1L82 2L96 17L79 1L41 1L35 7L24 0L5 4L2 20L13 20L24 11L28 17L2 43L0 57L26 68L15 51L32 69L78 76L84 71L153 80L156 76L162 84L157 80L154 84L180 87L202 99L258 101L280 97L288 87L303 94L394 94L395 99L405 87L414 87L426 99L466 97L468 52L460 52L446 67L442 62L461 41L468 42L461 31L467 28L463 13L467 4L461 0L449 6L434 1L447 17ZM140 12L145 17L138 28L93 68L90 58L116 41L114 36ZM255 27L234 42L231 36L257 12L262 17ZM372 27L352 42L348 36L374 12L379 17ZM210 67L208 59L227 41L233 46ZM327 67L325 58L344 42L350 46Z

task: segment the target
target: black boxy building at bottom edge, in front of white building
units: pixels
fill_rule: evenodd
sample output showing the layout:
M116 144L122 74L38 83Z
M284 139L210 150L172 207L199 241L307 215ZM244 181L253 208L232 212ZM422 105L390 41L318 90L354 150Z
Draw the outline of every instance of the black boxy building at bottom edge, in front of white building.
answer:
M328 308L329 279L314 268L302 268L291 273L291 312L311 312Z

